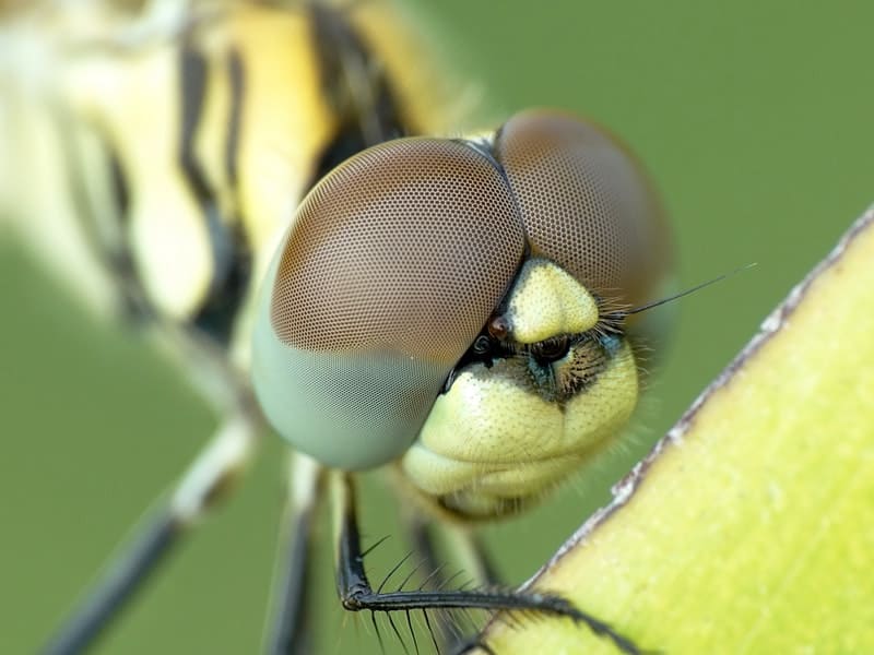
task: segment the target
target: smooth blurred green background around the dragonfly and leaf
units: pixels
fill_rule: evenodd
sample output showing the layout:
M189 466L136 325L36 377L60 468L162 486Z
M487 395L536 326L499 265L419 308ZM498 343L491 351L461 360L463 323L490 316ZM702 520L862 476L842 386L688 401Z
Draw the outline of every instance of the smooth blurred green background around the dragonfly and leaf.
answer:
M450 35L446 55L483 82L493 115L559 106L623 135L665 199L681 286L758 263L681 302L626 452L541 509L485 528L506 579L520 582L874 201L874 4L444 0L427 16ZM213 418L177 370L59 297L8 245L0 287L0 653L28 653L182 471ZM258 652L282 452L265 439L240 492L97 652ZM367 536L397 537L368 561L379 579L404 547L390 497L371 484L367 500ZM338 608L322 543L318 652L378 653L369 617Z

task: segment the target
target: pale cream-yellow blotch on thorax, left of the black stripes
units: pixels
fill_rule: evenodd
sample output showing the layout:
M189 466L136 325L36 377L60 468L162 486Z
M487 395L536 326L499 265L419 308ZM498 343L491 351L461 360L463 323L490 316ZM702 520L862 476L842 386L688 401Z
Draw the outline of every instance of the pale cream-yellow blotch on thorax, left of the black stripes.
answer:
M155 307L181 321L205 297L213 260L206 225L179 168L178 80L177 50L161 44L118 59L83 57L68 69L64 92L116 148L129 184L128 235L138 275Z

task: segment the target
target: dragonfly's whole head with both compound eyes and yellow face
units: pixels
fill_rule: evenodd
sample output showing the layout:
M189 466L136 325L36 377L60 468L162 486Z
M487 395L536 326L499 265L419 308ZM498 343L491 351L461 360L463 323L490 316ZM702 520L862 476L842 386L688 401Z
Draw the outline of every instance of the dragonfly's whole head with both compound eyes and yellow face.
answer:
M450 512L500 515L631 414L618 310L666 259L645 176L588 122L539 110L486 140L382 144L298 211L262 290L256 392L319 462L397 461Z

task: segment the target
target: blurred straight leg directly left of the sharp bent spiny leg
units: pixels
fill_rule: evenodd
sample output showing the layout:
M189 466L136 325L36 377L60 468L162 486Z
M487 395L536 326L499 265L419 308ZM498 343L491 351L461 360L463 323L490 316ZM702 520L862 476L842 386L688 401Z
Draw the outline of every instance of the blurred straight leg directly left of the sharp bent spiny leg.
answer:
M290 474L285 544L277 562L273 622L267 642L269 655L312 652L307 612L307 593L311 590L309 546L324 469L310 457L292 453Z

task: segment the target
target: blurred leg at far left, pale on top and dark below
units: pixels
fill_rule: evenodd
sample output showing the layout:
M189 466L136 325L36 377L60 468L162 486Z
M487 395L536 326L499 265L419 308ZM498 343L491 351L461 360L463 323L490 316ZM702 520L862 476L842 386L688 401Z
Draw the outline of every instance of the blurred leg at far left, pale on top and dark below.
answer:
M142 583L165 561L179 538L226 490L257 443L260 420L240 412L228 416L185 473L165 507L110 561L84 602L73 610L44 655L83 653L120 614Z

